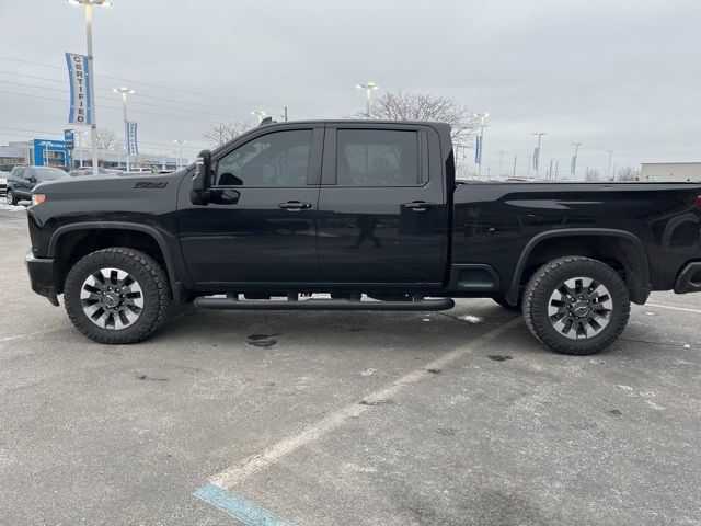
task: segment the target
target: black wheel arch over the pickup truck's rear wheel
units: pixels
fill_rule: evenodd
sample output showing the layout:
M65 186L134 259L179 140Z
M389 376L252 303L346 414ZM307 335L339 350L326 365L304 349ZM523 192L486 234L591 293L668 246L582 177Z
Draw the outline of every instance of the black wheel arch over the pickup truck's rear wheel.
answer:
M516 305L536 267L562 255L585 255L610 261L613 266L618 264L624 273L631 300L642 305L650 296L650 261L637 236L611 228L566 228L541 232L526 244L506 293L507 301Z

